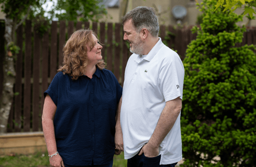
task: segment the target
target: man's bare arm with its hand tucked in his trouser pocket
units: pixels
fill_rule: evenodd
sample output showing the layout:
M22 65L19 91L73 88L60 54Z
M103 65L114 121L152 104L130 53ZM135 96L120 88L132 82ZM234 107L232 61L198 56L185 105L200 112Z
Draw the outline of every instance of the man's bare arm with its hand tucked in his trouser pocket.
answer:
M150 137L148 143L142 147L139 155L142 155L142 153L144 153L146 157L158 156L158 147L172 129L176 119L180 114L181 108L182 102L180 97L166 102L166 105L163 108L162 113L159 117L154 133Z

